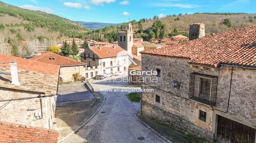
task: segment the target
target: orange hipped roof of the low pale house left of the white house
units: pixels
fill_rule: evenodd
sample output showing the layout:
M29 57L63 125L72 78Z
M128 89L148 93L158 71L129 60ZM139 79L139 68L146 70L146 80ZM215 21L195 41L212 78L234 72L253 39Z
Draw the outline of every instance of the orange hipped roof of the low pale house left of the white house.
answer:
M72 60L70 58L67 58L65 56L62 56L62 55L59 55L59 54L56 54L53 52L41 54L41 55L35 56L29 60L58 65L58 66L87 65L87 63L77 62L75 60Z

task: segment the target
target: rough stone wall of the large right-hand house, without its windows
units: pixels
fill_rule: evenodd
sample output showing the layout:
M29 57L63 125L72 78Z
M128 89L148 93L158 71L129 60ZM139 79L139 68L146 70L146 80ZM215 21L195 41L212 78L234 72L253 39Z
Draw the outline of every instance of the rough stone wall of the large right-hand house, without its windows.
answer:
M156 68L161 69L159 82L145 81L142 86L142 89L155 91L142 93L142 114L210 140L216 138L217 115L256 128L255 70L193 66L187 59L142 54L142 71L155 71ZM216 105L188 98L189 74L192 72L218 76ZM180 87L172 85L173 79L181 83ZM150 86L152 84L155 86ZM160 104L156 104L156 95L160 96ZM205 122L199 120L199 110L207 113Z

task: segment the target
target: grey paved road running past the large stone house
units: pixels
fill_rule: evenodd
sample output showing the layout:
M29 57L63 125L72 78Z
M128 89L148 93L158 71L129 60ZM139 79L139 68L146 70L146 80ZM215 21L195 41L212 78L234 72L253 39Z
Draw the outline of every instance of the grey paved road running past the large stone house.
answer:
M104 84L92 84L95 89L110 88ZM113 87L112 88L116 88ZM119 87L122 88L122 87ZM102 92L106 100L97 115L76 134L62 142L165 142L153 131L135 119L139 103L130 102L127 93ZM141 137L143 140L139 140Z

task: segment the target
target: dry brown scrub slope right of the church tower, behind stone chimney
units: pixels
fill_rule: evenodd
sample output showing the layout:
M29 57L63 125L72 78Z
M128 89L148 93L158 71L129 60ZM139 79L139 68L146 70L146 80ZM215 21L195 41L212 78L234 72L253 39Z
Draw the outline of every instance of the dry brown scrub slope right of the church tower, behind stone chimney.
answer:
M205 24L205 34L210 35L210 33L221 33L229 31L232 29L242 28L246 26L251 26L256 24L255 17L256 14L187 14L187 15L169 15L158 20L162 21L166 25L167 34L171 33L174 28L177 28L181 32L188 32L189 24L191 23L204 23ZM249 18L251 17L251 18ZM254 18L253 18L254 17ZM179 20L177 20L179 18ZM231 27L226 26L223 22L224 19L230 19ZM176 20L175 20L176 19ZM250 21L252 19L252 21ZM146 20L143 23L143 29L146 30L152 27L154 19ZM134 31L138 31L138 22L134 24Z

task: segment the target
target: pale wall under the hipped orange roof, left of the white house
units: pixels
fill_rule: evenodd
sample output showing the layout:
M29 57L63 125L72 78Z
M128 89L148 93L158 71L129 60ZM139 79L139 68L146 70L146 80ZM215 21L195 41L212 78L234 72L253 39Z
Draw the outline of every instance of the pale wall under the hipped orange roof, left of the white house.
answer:
M74 73L79 73L79 75L86 77L84 66L60 67L59 77L62 78L63 82L74 81L72 76Z

